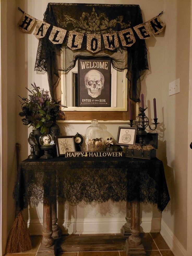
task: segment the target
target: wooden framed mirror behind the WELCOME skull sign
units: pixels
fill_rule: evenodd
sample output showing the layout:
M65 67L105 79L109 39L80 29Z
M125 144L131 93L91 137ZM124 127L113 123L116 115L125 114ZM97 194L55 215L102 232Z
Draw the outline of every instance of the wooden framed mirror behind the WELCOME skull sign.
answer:
M61 62L64 62L64 52ZM110 107L79 107L77 106L78 62L67 74L61 72L61 103L67 108L62 109L66 121L87 121L96 118L108 122L128 122L130 119L128 107L127 70L118 71L111 65L111 106ZM132 102L132 119L135 118L136 103Z

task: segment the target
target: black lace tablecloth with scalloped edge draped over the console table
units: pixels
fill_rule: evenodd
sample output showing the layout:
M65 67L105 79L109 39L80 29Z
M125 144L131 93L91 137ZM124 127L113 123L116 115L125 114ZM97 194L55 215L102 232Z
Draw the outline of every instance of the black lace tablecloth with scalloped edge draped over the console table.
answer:
M46 195L46 196L45 196ZM32 202L72 205L134 199L157 204L163 211L170 200L163 163L155 158L26 159L20 164L13 192L16 210Z

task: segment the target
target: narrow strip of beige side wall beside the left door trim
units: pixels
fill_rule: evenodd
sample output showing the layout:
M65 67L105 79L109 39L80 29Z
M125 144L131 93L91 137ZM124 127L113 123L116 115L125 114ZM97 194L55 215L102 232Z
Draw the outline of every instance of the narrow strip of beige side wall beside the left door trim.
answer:
M15 7L16 5L11 1L7 1L7 113L8 113L8 190L7 197L12 198L13 187L16 178L16 33L15 33L15 25L13 21L15 20ZM9 201L7 205L7 212L10 213L7 215L8 218L8 230L13 224L13 220L15 217L15 211L13 201Z

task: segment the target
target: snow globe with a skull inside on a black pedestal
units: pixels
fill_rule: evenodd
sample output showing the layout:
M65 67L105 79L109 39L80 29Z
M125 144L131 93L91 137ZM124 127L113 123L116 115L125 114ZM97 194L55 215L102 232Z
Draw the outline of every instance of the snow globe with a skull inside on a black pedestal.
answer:
M39 143L41 145L41 149L45 150L45 154L43 156L41 156L40 158L43 158L43 159L52 158L49 151L53 148L53 144L54 144L53 137L50 134L43 133L39 137Z

